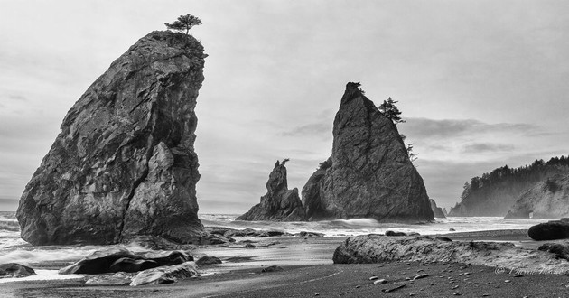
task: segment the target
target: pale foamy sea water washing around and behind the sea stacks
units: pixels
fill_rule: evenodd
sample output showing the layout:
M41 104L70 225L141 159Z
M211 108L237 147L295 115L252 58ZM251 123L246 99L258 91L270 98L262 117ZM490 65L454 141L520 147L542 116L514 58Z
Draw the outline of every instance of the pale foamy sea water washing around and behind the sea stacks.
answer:
M311 231L326 237L384 234L387 230L416 232L421 235L471 232L497 229L525 229L547 219L503 219L497 217L453 217L435 219L433 223L419 225L400 223L378 223L374 219L336 219L315 222L268 222L235 220L239 214L201 214L200 219L206 227L254 228L257 230L282 230L291 234ZM42 246L35 247L20 238L20 228L15 212L0 211L0 264L19 263L30 265L37 275L26 277L31 280L75 278L77 275L57 275L53 267L62 267L78 261L84 256L108 247L126 247L132 251L145 251L144 247L133 245L109 246ZM59 266L58 266L59 265ZM22 279L20 279L22 280ZM0 284L14 279L0 279Z

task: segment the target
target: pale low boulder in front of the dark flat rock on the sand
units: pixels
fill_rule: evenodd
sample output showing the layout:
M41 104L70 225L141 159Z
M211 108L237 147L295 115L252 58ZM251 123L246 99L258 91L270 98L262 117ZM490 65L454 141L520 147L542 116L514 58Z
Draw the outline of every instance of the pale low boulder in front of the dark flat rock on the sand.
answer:
M172 284L179 279L198 275L194 262L185 262L180 265L161 266L139 272L133 277L131 286L143 284Z

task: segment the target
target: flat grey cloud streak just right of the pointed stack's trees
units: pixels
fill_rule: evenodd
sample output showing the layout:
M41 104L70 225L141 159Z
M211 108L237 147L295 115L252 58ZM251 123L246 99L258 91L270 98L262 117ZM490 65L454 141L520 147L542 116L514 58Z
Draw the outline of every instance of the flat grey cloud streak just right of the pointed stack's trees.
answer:
M406 118L403 126L407 134L414 138L458 137L484 133L517 133L528 134L536 132L538 126L525 123L489 124L475 119L428 119Z

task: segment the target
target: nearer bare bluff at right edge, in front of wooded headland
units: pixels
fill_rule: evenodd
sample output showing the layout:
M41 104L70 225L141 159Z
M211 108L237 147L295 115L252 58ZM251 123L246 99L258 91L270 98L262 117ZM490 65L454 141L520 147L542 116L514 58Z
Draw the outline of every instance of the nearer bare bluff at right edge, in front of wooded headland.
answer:
M559 219L569 217L569 175L557 174L519 196L506 219Z

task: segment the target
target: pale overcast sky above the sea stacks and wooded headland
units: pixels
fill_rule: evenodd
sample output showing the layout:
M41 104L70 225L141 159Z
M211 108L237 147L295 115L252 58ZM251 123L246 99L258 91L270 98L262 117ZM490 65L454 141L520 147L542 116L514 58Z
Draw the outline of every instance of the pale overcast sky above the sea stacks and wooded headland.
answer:
M0 210L89 85L180 14L206 53L196 151L202 213L243 213L277 159L302 189L331 154L345 84L399 101L427 192L569 154L569 1L0 0Z

